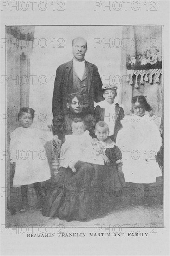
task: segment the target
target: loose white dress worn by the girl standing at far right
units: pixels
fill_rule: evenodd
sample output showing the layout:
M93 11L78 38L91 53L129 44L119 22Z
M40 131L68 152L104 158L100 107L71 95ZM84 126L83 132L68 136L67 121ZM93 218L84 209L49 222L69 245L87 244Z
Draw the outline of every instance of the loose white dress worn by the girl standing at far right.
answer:
M154 118L148 113L140 117L125 116L123 128L118 132L116 144L122 151L125 181L133 183L154 183L162 176L155 155L161 147L161 136Z

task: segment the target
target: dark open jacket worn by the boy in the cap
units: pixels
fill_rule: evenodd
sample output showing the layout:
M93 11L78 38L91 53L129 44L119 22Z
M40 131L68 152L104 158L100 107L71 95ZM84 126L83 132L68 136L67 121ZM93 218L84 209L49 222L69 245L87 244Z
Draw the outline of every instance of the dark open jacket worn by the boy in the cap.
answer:
M110 136L111 140L116 142L116 137L118 131L122 128L121 120L124 118L124 110L123 108L119 107L118 103L115 104L115 127L114 127L114 134ZM94 118L96 123L99 121L104 121L105 119L105 109L101 108L99 105L96 106L94 111Z

